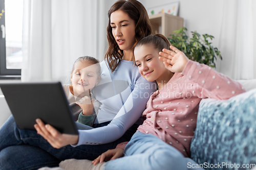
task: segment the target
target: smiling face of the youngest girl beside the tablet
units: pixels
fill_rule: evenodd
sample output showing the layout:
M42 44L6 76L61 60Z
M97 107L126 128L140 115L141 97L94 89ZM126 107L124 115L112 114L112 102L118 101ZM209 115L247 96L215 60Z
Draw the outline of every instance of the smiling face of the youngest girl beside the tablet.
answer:
M79 96L82 93L92 90L99 83L100 77L97 75L99 67L88 61L78 61L74 64L71 74L73 94Z

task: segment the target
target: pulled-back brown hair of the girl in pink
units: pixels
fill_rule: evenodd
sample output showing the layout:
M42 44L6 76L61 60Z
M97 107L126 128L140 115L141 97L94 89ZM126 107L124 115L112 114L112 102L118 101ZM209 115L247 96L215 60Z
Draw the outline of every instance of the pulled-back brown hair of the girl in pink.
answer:
M152 44L157 50L162 51L163 48L167 50L170 49L170 41L162 34L156 35L149 35L145 38L142 38L135 47L145 45L145 44Z

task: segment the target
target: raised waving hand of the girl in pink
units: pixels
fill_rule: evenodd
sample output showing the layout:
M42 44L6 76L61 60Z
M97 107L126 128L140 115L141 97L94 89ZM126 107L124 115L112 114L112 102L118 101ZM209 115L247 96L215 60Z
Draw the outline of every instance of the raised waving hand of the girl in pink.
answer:
M163 52L159 52L159 59L163 61L168 70L182 72L189 59L175 46L170 45L170 49L173 51L163 49Z

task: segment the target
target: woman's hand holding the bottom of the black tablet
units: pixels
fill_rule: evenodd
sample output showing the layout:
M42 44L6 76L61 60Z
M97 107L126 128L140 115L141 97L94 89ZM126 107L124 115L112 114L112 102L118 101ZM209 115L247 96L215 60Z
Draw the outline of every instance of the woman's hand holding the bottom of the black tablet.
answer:
M36 119L36 123L37 124L35 124L34 127L37 133L44 137L53 148L59 149L68 144L78 143L78 135L61 134L51 125L45 125L39 118Z

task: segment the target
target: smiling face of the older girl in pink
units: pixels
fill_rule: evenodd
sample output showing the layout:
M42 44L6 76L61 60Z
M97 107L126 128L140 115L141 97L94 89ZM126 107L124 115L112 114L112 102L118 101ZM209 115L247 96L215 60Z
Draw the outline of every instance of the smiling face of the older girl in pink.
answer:
M147 81L156 81L157 84L168 81L168 76L166 77L166 75L169 75L170 71L166 69L163 62L158 59L159 51L156 50L152 44L136 46L134 56L141 76Z

